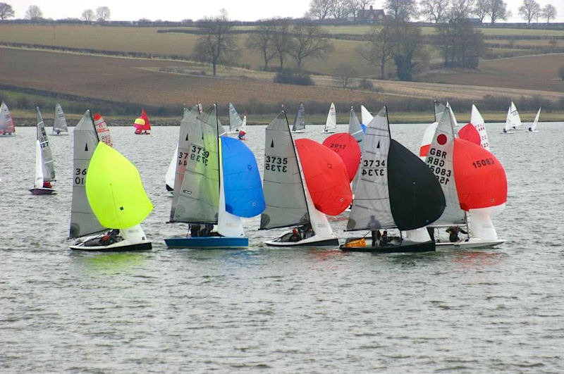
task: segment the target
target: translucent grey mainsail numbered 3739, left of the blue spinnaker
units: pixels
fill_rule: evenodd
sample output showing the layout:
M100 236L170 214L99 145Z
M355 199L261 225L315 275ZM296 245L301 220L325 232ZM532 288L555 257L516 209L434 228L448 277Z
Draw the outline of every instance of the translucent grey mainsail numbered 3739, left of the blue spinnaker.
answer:
M190 139L184 180L179 189L172 222L217 223L219 212L219 147L216 105L193 123L201 137ZM197 131L197 130L196 130ZM176 192L176 187L175 187Z

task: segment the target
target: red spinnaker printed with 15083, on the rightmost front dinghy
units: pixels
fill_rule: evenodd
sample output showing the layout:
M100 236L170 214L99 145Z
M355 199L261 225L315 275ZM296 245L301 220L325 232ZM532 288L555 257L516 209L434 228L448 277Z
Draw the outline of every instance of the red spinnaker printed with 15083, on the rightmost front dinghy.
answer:
M507 177L496 156L479 144L455 138L453 163L462 210L505 204Z

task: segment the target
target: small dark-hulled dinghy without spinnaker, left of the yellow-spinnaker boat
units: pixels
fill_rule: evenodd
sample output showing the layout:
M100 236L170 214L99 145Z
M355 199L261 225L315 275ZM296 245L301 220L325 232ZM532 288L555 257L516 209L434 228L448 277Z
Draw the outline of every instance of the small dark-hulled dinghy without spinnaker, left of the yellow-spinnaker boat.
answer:
M35 182L30 192L34 195L55 194L51 185L55 181L55 166L49 139L39 108L37 109L37 139L35 141Z

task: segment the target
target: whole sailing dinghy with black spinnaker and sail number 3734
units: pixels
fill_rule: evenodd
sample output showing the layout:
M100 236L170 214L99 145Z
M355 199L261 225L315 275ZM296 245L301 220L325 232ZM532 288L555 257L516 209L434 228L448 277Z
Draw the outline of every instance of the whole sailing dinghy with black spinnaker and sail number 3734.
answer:
M438 219L445 197L425 163L391 139L386 107L367 125L362 147L360 180L347 223L348 231L397 228L400 237L389 242L371 235L347 239L343 251L374 253L434 251L434 242L423 227ZM405 232L405 238L403 237Z

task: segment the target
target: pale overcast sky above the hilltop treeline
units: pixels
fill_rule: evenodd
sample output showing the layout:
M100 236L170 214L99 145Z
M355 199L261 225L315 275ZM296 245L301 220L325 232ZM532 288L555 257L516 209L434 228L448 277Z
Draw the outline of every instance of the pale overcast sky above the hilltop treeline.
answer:
M197 20L207 15L219 15L225 8L233 20L258 20L272 17L301 17L309 8L309 0L2 0L11 4L16 12L15 18L25 18L25 10L30 5L41 8L44 18L80 18L85 9L95 10L98 6L108 6L111 20L170 20L186 18ZM555 22L564 22L564 0L537 0L542 6L553 4L558 15ZM517 8L522 0L505 0L513 13L510 22L522 22ZM381 8L384 0L374 1L374 8Z

